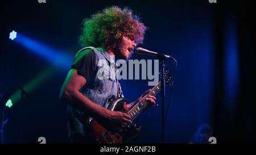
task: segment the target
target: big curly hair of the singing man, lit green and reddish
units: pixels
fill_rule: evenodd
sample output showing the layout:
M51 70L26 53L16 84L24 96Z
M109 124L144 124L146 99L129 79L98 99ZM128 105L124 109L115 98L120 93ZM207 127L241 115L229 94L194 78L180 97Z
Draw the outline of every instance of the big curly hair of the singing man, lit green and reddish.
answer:
M147 27L130 9L112 6L85 18L79 37L82 46L110 47L117 45L122 35L134 35L135 43L143 43Z

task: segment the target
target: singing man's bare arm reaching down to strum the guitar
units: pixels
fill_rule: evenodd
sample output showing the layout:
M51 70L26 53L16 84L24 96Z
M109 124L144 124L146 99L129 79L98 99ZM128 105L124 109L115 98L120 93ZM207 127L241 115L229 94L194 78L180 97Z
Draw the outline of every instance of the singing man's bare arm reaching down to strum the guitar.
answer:
M106 118L110 122L125 125L131 123L129 115L119 111L110 111L85 97L80 93L80 89L86 83L83 76L77 74L76 69L71 69L61 88L60 99L67 101L72 107L87 112L94 118Z

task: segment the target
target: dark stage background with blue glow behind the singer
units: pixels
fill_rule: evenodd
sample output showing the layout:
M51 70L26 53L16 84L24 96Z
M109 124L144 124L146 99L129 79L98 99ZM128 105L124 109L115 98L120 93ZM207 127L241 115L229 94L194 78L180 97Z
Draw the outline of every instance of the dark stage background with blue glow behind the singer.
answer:
M188 143L204 123L212 126L217 143L255 143L255 9L249 1L220 0L1 2L1 110L9 118L5 143L38 143L42 136L47 143L68 143L67 104L59 100L59 92L81 48L80 24L82 19L113 5L130 7L149 28L141 47L177 60L165 143ZM56 66L52 62L57 57L43 57L11 41L8 37L13 30L62 51L71 61L64 68ZM174 73L173 62L166 65ZM48 68L57 69L12 108L5 107L6 99L16 89ZM147 80L121 83L131 102L151 88ZM161 104L144 111L136 122L143 127L134 143L160 143Z

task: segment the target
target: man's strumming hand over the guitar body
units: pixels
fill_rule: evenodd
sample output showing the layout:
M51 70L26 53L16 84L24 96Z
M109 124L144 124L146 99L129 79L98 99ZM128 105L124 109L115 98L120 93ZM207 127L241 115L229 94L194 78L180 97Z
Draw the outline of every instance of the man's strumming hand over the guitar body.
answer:
M120 111L109 111L107 119L114 124L121 125L122 127L126 127L129 123L132 123L131 116Z

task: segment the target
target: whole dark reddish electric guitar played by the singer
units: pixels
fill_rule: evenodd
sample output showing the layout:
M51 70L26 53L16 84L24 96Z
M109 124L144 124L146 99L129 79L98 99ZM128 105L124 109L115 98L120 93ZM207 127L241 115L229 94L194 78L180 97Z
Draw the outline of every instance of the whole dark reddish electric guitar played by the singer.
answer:
M164 79L166 86L171 84L172 78L168 70L164 72ZM111 111L121 111L126 113L127 115L131 116L131 120L133 122L133 120L137 118L141 111L143 111L144 108L148 106L148 102L146 101L148 95L155 96L159 93L160 89L161 82L159 82L153 89L151 89L151 91L141 100L139 100L139 102L137 102L129 111L127 111L126 108L126 98L110 99L108 109ZM139 133L141 132L141 127L137 127L134 122L123 128L116 127L106 122L98 122L94 118L88 119L88 135L90 135L93 141L100 144L129 143L130 140L134 139L139 135Z

